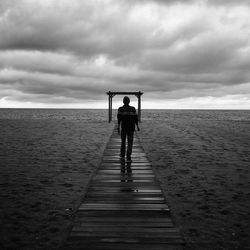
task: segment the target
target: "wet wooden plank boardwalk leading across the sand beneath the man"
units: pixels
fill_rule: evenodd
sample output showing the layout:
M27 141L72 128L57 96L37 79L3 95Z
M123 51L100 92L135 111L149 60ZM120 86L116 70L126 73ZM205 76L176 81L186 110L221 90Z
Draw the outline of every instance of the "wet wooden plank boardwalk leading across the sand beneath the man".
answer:
M120 161L114 131L63 249L182 249L183 240L138 139L132 163Z

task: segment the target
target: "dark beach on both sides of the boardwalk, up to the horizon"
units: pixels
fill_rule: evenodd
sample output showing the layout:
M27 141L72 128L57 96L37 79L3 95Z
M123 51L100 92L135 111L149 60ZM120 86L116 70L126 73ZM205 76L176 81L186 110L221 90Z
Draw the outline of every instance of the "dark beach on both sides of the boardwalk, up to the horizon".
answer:
M58 249L114 128L105 111L0 115L0 249ZM186 249L250 249L250 112L144 111L136 132Z

